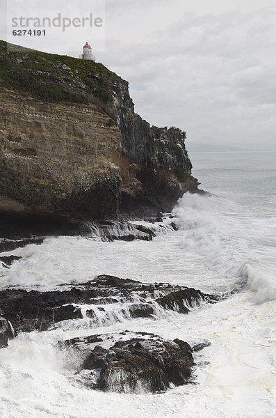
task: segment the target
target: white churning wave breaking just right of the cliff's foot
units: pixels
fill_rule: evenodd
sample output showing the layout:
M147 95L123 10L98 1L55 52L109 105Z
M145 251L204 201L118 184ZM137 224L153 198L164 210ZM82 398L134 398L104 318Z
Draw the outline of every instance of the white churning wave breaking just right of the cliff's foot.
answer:
M260 219L245 222L240 206L218 196L186 194L173 213L184 232L179 245L186 253L202 257L205 265L229 279L236 290L250 288L252 302L275 300L276 270L266 259L270 251L259 254L252 246L263 240L262 233L270 225L262 222L264 231L256 229Z

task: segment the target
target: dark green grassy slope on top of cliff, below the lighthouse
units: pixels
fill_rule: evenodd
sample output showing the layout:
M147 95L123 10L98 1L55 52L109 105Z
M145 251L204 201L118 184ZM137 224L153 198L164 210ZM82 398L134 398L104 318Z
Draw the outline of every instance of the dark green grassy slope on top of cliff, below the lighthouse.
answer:
M16 47L0 40L1 84L45 102L111 102L114 73L103 64ZM20 52L18 52L20 49Z

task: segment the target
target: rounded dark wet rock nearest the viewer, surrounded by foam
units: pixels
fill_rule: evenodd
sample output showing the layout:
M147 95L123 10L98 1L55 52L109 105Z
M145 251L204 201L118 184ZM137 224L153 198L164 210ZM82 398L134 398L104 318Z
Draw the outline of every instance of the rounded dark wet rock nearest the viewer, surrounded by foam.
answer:
M96 343L100 340L104 347ZM62 341L59 346L67 353L76 350L83 359L76 380L111 392L165 392L172 385L189 382L194 365L188 343L166 341L146 332L81 337Z

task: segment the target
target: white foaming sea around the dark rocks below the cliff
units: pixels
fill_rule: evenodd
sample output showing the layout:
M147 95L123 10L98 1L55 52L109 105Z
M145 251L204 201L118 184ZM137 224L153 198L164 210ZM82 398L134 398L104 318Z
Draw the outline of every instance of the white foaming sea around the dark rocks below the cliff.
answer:
M22 260L0 269L0 286L43 291L115 274L228 297L188 316L115 318L92 329L65 321L55 330L19 334L0 351L0 417L275 417L276 153L190 157L194 176L213 195L179 200L173 211L179 231L151 242L47 238L13 251ZM102 393L69 378L56 341L123 330L211 346L195 354L193 385L165 394Z

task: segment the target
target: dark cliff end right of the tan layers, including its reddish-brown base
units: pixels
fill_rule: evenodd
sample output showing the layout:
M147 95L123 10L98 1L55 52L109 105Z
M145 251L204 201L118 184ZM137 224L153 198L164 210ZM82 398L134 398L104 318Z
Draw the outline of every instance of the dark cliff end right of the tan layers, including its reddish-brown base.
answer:
M113 82L113 107L122 141L120 148L129 157L131 184L124 179L120 207L127 212L152 206L171 210L188 190L197 189L191 176L192 164L185 147L186 132L176 127L150 126L134 112L129 85L116 77ZM137 204L139 202L139 204Z

